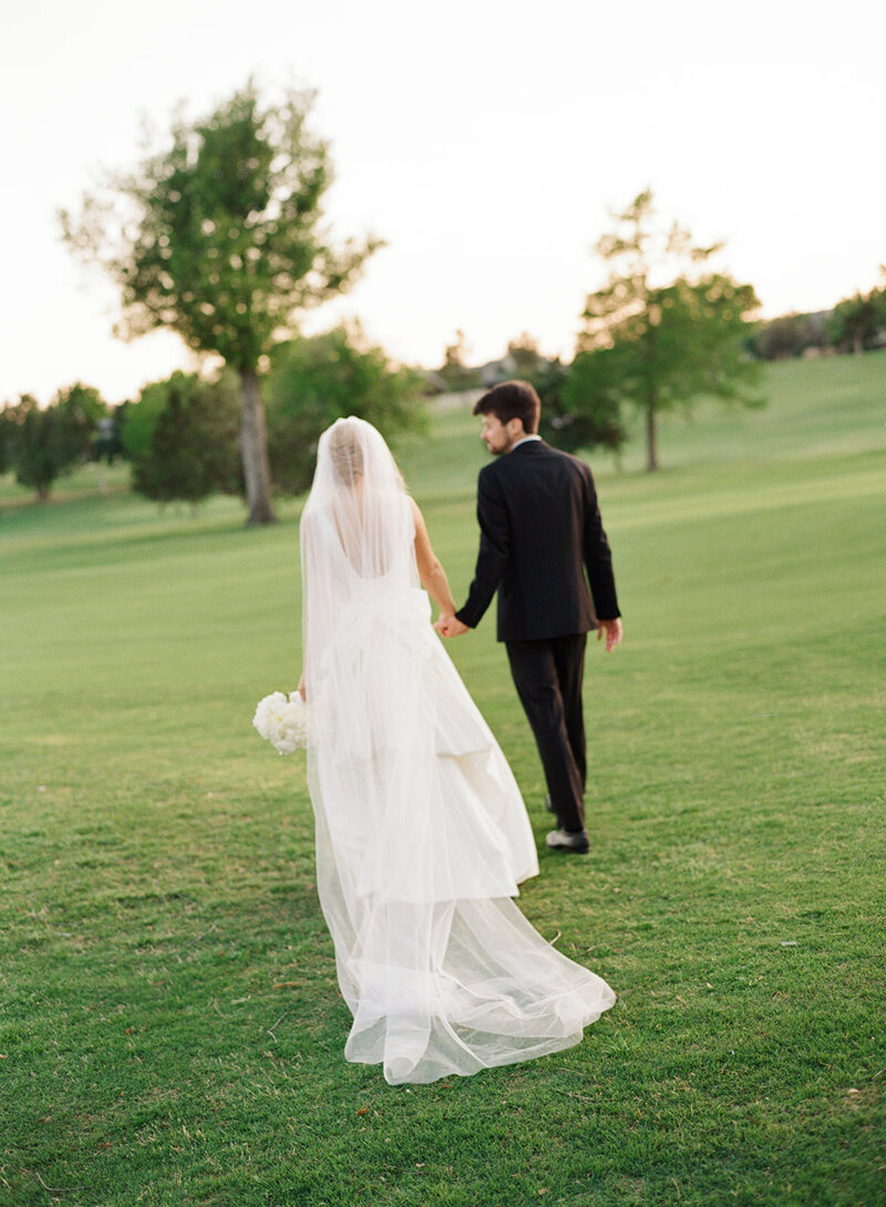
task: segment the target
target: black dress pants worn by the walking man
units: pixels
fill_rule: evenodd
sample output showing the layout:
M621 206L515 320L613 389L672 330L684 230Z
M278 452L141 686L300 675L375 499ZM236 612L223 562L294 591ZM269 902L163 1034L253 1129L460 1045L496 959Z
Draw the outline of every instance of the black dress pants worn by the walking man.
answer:
M585 632L506 642L517 694L535 734L550 804L565 830L584 829L587 746L582 711Z

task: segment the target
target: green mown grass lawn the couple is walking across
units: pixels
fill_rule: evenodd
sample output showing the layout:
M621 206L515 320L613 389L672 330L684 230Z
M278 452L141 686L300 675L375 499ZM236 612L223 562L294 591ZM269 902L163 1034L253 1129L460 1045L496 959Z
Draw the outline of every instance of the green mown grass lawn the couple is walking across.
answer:
M588 657L593 852L520 898L617 1007L431 1086L348 1065L302 756L297 505L0 511L0 1203L563 1207L886 1200L886 355L595 465L624 646ZM403 453L461 595L477 421ZM541 838L492 618L450 649ZM49 1189L47 1189L49 1188Z

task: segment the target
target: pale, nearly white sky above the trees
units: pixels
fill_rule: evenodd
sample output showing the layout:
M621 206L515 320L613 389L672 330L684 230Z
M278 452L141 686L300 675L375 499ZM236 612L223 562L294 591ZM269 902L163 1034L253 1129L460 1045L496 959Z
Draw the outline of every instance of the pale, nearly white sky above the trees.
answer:
M76 380L112 403L193 367L173 334L115 339L117 297L60 243L104 171L176 105L253 77L316 89L326 215L386 247L344 298L398 361L474 363L534 336L570 358L593 253L652 187L663 221L752 284L763 315L817 310L886 262L882 0L0 0L0 403Z

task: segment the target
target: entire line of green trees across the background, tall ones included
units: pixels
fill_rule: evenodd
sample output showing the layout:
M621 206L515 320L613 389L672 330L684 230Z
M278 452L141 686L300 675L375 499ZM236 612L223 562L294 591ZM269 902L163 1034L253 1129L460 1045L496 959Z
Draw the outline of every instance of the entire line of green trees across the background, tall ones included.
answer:
M291 91L268 104L249 83L205 118L176 117L158 151L59 215L71 250L118 288L118 334L171 330L222 367L173 374L113 414L82 385L43 410L22 396L0 414L0 471L14 468L46 497L77 460L123 454L150 497L233 491L247 523L264 524L272 483L305 489L316 439L338 415L359 414L389 437L421 425L421 375L391 363L357 325L299 334L305 311L346 291L381 246L331 238L322 204L332 165L310 127L314 100ZM573 361L542 357L529 337L509 348L560 447L617 450L636 413L655 470L663 412L701 396L762 406L760 360L816 346L820 328L840 350L884 340L886 290L845 299L823 322L760 325L753 287L716 267L722 245L663 227L651 191L612 218L595 247L608 278L587 298ZM450 389L473 384L462 344L438 373Z

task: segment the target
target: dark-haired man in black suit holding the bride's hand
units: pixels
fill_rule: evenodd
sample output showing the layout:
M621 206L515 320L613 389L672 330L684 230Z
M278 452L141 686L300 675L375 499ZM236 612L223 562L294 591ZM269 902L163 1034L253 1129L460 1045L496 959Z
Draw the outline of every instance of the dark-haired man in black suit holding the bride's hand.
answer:
M474 629L499 591L499 641L538 746L548 807L559 827L546 841L585 853L587 772L582 678L588 631L622 640L612 554L590 470L536 435L541 403L526 381L485 393L474 415L495 460L477 484L480 548L467 602L435 628ZM585 578L587 570L587 578ZM590 590L588 590L590 583ZM593 596L593 602L591 602Z

